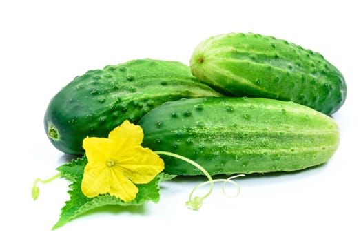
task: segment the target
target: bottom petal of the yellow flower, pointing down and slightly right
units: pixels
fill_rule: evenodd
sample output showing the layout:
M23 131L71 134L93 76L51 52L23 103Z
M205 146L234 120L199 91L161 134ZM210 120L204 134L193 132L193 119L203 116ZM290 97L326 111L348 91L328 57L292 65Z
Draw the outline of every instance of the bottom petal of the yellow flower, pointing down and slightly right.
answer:
M121 200L128 202L136 198L138 187L134 185L128 178L126 178L121 171L112 168L110 171L110 195L121 198Z

